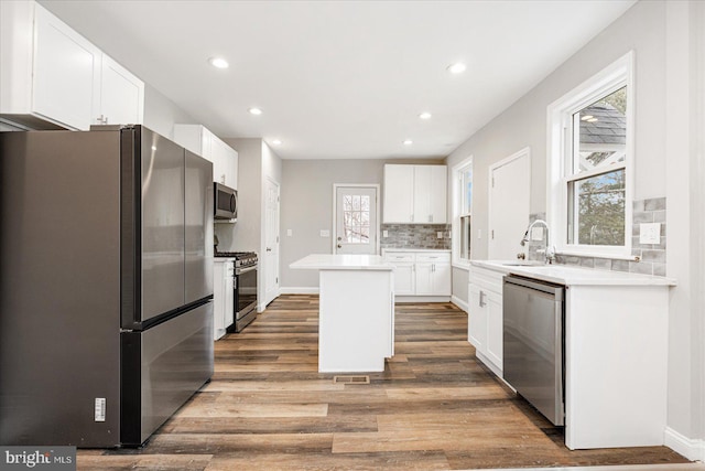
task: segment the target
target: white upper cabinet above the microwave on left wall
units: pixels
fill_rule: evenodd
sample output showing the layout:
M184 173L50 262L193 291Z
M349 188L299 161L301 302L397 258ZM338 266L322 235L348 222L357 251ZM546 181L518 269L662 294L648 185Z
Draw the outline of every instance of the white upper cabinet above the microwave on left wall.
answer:
M200 125L174 125L174 141L213 162L213 181L237 190L238 152Z

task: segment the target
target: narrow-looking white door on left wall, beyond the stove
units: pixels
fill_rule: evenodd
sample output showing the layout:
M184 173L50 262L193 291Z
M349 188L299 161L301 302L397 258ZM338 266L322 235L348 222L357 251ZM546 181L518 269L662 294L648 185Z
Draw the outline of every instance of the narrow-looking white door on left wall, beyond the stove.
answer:
M263 306L279 296L279 183L267 179Z

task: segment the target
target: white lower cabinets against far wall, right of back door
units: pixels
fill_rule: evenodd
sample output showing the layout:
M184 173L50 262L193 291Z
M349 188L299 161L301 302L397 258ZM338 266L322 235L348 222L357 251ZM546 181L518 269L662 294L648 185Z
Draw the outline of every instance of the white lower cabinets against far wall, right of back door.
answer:
M393 250L384 261L394 265L397 297L449 297L451 253L448 250Z

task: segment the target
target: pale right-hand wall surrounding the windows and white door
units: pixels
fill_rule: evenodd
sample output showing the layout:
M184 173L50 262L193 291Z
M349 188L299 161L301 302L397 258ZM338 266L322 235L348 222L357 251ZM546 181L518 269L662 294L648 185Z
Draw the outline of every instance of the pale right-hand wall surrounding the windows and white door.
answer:
M693 131L688 133L695 126L692 111L692 103L697 103L694 101L695 89L699 87L702 93L703 86L702 75L695 75L691 69L694 67L693 50L698 41L702 44L696 33L703 30L702 13L695 19L688 11L688 8L702 10L703 6L697 3L638 2L534 89L471 136L448 156L446 163L452 167L470 154L474 157L471 247L474 258L487 258L489 165L529 146L532 154L530 212L545 212L547 105L628 51L634 51L634 199L666 196L666 269L668 276L679 279L679 286L672 290L669 312L669 427L674 436L680 433L702 440L705 438L702 334L705 328L702 295L698 295L701 301L697 303L693 296L696 291L702 292L705 285L702 270L699 274L693 270L692 255L703 244L703 228L695 229L688 222L694 220L696 210L702 214L699 202L705 184L702 171L691 172L696 163L702 165L702 154L695 156L692 150L695 137ZM688 21L696 28L688 28ZM698 51L702 53L702 47ZM702 65L699 71L702 74ZM702 121L699 124L697 133L702 135ZM693 173L699 176L693 176ZM698 221L697 217L694 221ZM482 238L477 237L478 229L481 229ZM460 280L458 271L463 270L454 270L454 295L467 296L456 282ZM699 283L699 291L693 281ZM638 333L638 325L634 331ZM693 447L691 442L690 448L679 451L692 454L703 446L702 441L698 443Z

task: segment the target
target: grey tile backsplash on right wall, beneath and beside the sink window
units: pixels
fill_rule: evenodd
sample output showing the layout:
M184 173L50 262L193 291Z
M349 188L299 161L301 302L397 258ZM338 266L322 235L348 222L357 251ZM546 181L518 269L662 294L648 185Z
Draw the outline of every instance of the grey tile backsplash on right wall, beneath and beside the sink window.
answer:
M556 263L561 265L579 265L582 267L599 268L604 270L628 271L632 274L665 276L665 197L653 197L633 202L631 254L639 260L621 260L616 258L581 257L575 255L556 255ZM545 213L530 215L530 221L545 220ZM640 244L640 224L659 223L661 225L660 244ZM529 259L541 260L536 254L543 248L541 243L530 243Z

